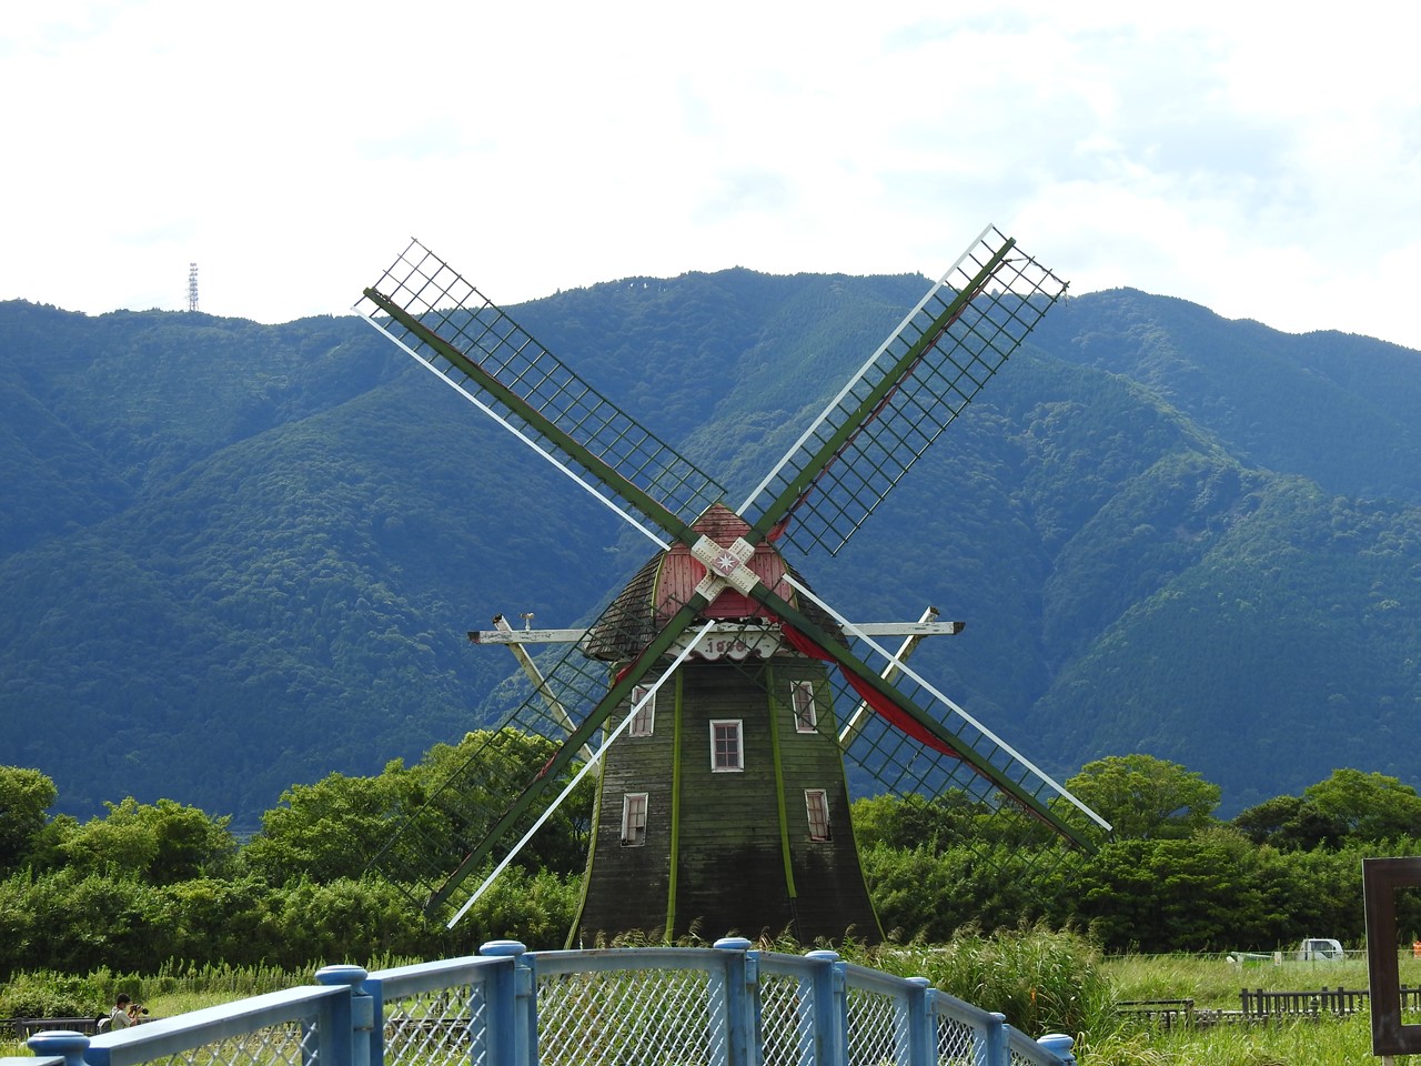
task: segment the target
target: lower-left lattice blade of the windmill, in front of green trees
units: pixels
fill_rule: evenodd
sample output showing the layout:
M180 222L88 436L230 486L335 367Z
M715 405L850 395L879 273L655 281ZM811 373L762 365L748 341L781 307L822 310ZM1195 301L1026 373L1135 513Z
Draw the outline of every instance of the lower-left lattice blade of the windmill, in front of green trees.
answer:
M632 583L651 580L658 556ZM431 918L473 873L514 834L527 833L608 716L659 661L675 655L706 600L691 594L666 600L664 614L628 613L614 600L549 669L541 685L513 708L496 729L473 742L396 826L371 868L404 887ZM597 634L617 634L615 647ZM691 641L693 644L693 641ZM612 662L625 662L615 677ZM529 758L529 746L537 758Z

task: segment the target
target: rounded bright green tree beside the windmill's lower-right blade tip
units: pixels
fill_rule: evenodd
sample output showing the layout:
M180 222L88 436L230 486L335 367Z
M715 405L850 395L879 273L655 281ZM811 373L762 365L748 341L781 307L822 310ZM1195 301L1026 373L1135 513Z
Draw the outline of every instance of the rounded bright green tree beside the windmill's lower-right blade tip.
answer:
M1086 763L1066 789L1115 827L1115 839L1182 839L1214 820L1222 790L1179 763L1111 755Z

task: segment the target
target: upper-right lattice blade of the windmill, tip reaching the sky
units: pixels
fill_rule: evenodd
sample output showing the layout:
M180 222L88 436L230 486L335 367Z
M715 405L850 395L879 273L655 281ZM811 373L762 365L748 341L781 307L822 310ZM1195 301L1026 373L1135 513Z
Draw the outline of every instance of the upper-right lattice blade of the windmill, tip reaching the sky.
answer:
M750 540L837 553L1064 291L988 226L740 506Z

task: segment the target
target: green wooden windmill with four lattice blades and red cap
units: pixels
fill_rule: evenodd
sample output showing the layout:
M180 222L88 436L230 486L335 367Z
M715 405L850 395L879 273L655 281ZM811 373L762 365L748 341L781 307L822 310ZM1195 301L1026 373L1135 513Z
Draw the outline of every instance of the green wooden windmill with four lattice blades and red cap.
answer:
M472 874L502 856L486 887L598 766L570 940L877 940L845 760L877 789L1026 812L1090 847L1106 823L816 596L784 554L836 554L1064 290L989 226L732 509L710 476L411 242L357 310L655 551L406 813L377 864L414 877L426 914L446 917ZM514 736L544 738L550 755L510 780L490 755Z

